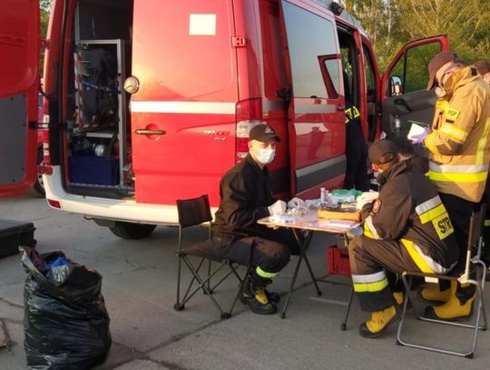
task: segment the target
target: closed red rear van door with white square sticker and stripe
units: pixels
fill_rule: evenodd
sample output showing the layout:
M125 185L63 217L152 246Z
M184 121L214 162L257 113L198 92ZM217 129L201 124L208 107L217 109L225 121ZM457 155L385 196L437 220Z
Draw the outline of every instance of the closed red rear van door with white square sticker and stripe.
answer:
M216 205L220 175L234 165L233 2L135 1L133 19L132 75L140 81L131 99L136 202L174 204L209 194Z

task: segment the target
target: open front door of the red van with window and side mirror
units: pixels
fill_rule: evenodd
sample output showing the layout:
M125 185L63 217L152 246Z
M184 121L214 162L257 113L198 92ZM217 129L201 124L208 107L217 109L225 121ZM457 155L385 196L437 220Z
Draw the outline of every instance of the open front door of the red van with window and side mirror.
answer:
M449 49L446 35L413 41L398 52L381 79L383 131L388 138L407 137L413 123L430 125L436 95L426 91L427 65L439 52Z

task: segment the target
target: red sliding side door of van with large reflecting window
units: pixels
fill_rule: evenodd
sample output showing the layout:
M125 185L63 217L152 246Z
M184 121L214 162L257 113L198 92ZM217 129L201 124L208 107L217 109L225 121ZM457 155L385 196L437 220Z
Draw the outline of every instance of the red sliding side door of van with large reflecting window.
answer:
M291 195L316 198L341 187L346 169L344 96L334 18L320 7L281 1L291 77Z

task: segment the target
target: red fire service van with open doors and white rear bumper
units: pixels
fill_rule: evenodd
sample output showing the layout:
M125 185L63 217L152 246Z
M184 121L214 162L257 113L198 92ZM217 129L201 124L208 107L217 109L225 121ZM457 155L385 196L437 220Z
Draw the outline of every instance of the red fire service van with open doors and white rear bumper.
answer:
M175 224L179 198L217 206L260 123L282 138L276 195L341 187L345 96L368 141L430 122L426 64L448 47L418 40L379 75L366 32L328 0L54 0L44 43L38 13L36 0L0 10L0 191L34 183L43 44L47 202L127 238Z

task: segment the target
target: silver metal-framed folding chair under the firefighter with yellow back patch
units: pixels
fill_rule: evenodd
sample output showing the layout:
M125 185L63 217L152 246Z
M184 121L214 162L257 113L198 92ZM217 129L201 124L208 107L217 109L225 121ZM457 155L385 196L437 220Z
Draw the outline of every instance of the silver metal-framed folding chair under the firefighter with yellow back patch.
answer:
M398 330L397 330L397 345L406 345L408 347L413 347L413 348L420 348L420 349L425 349L428 351L433 351L433 352L439 352L443 354L448 354L448 355L459 355L462 357L466 358L473 358L473 355L475 353L475 347L476 347L476 339L478 336L478 330L486 330L486 315L485 315L485 302L484 302L484 288L485 288L485 272L486 272L486 266L485 264L481 261L480 259L480 254L481 254L481 248L483 244L483 227L485 224L485 212L486 212L486 205L482 205L480 207L480 210L476 213L474 213L471 216L470 220L470 226L469 226L469 235L468 235L468 243L467 243L467 248L466 248L466 267L465 267L465 272L463 275L460 276L451 276L451 275L436 275L436 274L424 274L424 273L416 273L416 272L404 272L402 274L402 279L403 279L403 284L405 285L407 294L405 295L405 300L403 303L403 311L400 319L400 323L398 325ZM474 247L476 247L476 254L475 256L471 256L472 252L474 250ZM481 271L478 272L477 269L475 268L475 279L472 279L470 277L470 267L471 266L480 266ZM474 324L462 324L462 323L456 323L456 322L449 322L449 321L444 321L444 320L435 320L435 319L430 319L426 317L417 317L419 320L422 321L428 321L432 323L439 323L439 324L446 324L446 325L454 325L454 326L460 326L460 327L466 327L466 328L472 328L474 329L474 335L473 335L473 345L470 350L466 351L453 351L449 350L446 348L440 348L436 346L429 346L429 345L419 345L416 343L409 343L406 340L402 339L402 328L404 324L404 319L405 315L407 313L407 304L408 304L408 292L409 292L409 278L408 276L421 276L421 277L431 277L431 278L436 278L436 279L442 279L442 280L449 280L449 281L458 281L459 283L465 284L469 283L471 285L475 285L476 288L476 297L474 301L474 309L476 309L476 319ZM480 325L480 318L483 315L483 325Z

